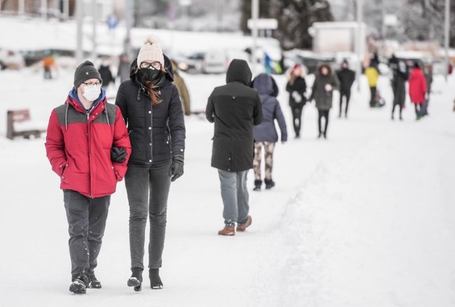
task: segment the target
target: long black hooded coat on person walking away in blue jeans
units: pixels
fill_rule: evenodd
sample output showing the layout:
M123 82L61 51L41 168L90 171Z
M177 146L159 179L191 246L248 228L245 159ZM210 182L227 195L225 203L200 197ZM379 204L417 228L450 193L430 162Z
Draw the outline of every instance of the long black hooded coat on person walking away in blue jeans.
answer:
M252 73L245 60L232 60L226 85L215 87L208 97L205 116L215 123L212 166L223 171L247 171L253 167L253 128L262 122L257 90L249 87Z

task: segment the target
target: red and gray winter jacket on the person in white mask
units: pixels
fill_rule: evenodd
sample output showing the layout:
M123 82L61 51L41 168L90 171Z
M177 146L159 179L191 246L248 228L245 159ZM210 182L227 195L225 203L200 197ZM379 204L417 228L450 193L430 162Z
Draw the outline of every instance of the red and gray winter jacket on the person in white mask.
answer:
M123 163L111 161L112 147L127 151ZM87 114L70 95L53 109L45 149L60 188L75 190L90 198L115 192L127 172L131 144L120 109L102 99Z

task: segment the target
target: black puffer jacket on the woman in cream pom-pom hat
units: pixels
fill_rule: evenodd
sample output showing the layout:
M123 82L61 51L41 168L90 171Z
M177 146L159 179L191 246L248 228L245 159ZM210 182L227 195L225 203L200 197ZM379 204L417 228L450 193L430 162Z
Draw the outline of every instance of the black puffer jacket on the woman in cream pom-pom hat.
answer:
M178 90L173 84L171 61L164 56L166 74L158 83L162 102L154 107L134 73L137 60L131 66L130 80L122 82L115 99L127 123L131 141L129 164L166 161L172 156L183 156L185 122Z

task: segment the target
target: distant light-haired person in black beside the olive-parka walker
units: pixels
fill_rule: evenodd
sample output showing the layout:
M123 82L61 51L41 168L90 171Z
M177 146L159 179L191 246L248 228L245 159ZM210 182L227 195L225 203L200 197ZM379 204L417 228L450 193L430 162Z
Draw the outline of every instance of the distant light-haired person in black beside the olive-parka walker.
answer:
M289 107L292 112L292 124L296 139L300 137L301 114L306 104L306 82L301 65L297 63L289 74L286 90L289 92Z

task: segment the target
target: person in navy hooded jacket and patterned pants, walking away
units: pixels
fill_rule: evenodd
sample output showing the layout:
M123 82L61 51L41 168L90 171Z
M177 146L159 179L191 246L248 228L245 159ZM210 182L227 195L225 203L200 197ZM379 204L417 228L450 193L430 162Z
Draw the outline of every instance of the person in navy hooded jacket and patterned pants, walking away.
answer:
M278 141L277 129L275 128L275 119L278 122L279 130L281 131L282 142L287 141L287 128L286 122L279 102L278 86L274 78L267 74L260 74L252 82L252 87L259 92L259 97L262 102L262 112L264 119L262 123L255 126L255 159L253 161L253 169L255 171L255 188L254 190L261 190L261 160L262 160L262 147L264 148L265 160L265 188L268 190L273 188L275 183L272 180L273 170L273 151L275 144Z

